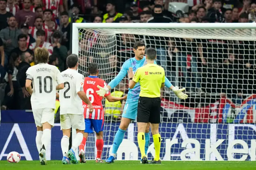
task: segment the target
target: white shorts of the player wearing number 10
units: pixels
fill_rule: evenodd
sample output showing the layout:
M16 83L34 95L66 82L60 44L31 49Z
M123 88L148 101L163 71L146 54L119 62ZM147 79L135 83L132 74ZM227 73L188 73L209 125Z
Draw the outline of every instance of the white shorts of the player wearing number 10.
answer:
M54 109L45 108L45 109L32 109L33 116L35 119L36 127L42 127L43 123L48 122L52 127L54 126Z

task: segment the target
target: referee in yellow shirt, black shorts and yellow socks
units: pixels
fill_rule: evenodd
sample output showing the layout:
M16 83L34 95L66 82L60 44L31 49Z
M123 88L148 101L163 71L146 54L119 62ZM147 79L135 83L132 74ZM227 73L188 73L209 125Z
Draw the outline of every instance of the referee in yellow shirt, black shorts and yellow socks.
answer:
M140 98L138 102L138 144L142 157L142 164L148 164L148 159L145 154L145 130L150 123L154 146L155 157L151 164L161 164L160 160L160 145L161 136L158 128L160 123L160 89L164 87L165 75L163 67L154 64L156 59L156 50L154 48L146 49L147 64L140 67L133 76L132 68L129 68L129 77L133 77L129 81L129 88L132 89L136 83L140 82Z

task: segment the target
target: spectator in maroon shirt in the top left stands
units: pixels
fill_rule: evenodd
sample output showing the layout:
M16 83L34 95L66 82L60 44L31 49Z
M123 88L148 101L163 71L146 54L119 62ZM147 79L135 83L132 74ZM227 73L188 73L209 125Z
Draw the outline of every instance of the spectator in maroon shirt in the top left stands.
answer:
M33 26L36 14L30 10L31 1L23 0L24 8L18 12L16 12L15 18L18 22L18 26L20 27L22 24L27 23L28 26Z

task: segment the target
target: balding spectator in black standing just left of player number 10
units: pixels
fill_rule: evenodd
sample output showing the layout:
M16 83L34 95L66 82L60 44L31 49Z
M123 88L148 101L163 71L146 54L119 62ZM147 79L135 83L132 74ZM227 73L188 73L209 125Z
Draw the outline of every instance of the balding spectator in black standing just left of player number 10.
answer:
M22 89L20 91L20 109L31 109L30 94L25 88L26 83L26 71L30 67L30 63L33 61L33 55L29 52L24 52L20 55L21 63L18 66L17 81Z

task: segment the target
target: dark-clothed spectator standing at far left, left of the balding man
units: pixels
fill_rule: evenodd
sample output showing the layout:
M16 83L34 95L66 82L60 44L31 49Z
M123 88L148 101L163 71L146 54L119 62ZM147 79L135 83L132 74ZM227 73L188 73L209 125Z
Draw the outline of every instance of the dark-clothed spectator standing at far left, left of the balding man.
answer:
M6 67L7 74L4 77L5 81L7 82L7 86L5 89L4 102L2 104L7 109L20 109L20 85L18 84L16 77L18 73L17 66L19 63L19 55L16 53L12 53L12 55L10 55L9 65Z

